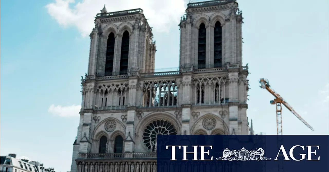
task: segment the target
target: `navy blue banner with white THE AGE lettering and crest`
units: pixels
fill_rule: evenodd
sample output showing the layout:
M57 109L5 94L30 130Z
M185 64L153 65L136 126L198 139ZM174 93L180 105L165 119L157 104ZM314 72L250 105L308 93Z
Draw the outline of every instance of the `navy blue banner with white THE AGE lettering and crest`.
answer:
M328 135L158 135L157 172L328 172Z

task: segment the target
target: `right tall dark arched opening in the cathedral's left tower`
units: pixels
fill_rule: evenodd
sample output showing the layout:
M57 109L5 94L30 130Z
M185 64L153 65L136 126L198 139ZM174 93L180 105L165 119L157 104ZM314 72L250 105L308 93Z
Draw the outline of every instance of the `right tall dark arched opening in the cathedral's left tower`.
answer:
M122 35L122 43L121 43L120 75L128 73L128 53L129 53L129 32L125 31Z

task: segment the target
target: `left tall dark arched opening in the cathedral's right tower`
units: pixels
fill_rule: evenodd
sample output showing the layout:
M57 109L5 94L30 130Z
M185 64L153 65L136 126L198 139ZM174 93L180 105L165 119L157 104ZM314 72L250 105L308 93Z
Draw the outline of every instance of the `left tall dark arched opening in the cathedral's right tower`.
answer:
M206 26L204 23L201 23L199 27L198 68L206 68Z

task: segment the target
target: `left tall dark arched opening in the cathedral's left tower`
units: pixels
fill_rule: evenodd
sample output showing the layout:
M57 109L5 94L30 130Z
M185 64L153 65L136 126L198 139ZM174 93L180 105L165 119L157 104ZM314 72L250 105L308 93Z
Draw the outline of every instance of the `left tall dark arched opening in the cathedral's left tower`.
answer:
M107 38L105 76L110 76L113 72L114 42L114 34L111 32L111 34Z

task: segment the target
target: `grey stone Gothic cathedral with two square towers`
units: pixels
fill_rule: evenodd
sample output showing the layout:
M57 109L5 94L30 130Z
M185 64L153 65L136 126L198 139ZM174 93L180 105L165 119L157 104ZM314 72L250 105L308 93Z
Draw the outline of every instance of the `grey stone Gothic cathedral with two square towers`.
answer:
M71 172L156 172L157 135L253 134L242 19L236 0L189 3L179 70L155 72L143 11L104 7L90 34Z

